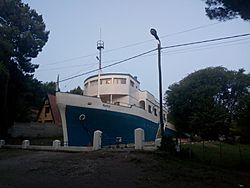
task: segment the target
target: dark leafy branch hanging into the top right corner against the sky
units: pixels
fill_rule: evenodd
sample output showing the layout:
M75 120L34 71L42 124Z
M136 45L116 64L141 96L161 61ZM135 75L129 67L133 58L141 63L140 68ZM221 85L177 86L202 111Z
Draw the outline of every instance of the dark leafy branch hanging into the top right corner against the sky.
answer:
M249 0L206 0L206 13L210 19L230 20L240 16L250 21Z

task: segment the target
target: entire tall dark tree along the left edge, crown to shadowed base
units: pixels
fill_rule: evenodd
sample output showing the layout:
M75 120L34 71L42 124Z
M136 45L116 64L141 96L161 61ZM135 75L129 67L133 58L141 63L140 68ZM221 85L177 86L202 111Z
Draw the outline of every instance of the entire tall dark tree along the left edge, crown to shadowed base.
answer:
M49 32L41 15L21 0L0 0L0 134L7 132L18 109L29 103L37 57ZM25 109L22 109L25 111ZM1 136L0 135L0 136Z

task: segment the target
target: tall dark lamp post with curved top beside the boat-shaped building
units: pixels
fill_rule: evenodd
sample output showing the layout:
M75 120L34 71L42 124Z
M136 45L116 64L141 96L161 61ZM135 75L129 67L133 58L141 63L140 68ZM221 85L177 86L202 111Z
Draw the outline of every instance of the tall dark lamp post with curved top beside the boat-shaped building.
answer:
M158 41L157 50L158 50L158 71L159 71L159 100L160 100L160 126L161 126L161 145L164 137L164 123L163 123L163 112L162 112L162 76L161 76L161 41L157 35L155 29L150 29L151 35L155 37Z

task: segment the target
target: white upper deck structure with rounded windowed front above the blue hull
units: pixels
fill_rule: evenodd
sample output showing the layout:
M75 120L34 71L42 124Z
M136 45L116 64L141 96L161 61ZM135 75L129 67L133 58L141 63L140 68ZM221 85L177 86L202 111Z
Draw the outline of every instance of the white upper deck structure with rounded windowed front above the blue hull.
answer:
M99 83L99 84L98 84ZM84 81L84 95L98 97L104 103L120 106L137 106L154 116L159 116L159 103L148 91L140 90L137 77L123 73L107 73L90 76ZM166 109L163 117L166 120Z

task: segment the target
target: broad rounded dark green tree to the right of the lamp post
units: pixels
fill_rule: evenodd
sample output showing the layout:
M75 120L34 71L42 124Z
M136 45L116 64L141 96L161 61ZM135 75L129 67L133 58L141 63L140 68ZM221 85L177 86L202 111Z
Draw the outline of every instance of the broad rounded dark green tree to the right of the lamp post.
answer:
M248 127L250 75L243 69L210 67L171 85L165 99L178 130L217 139L237 126ZM243 126L244 125L244 126ZM242 133L242 132L241 132Z

